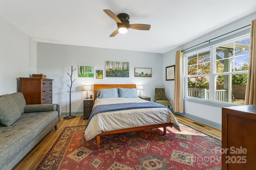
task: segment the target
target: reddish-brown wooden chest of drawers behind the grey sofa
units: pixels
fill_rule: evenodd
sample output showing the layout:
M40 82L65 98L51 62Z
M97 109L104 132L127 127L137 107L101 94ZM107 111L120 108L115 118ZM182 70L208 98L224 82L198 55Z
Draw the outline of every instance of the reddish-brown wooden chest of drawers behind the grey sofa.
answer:
M49 78L20 77L20 92L26 104L52 104L52 81Z

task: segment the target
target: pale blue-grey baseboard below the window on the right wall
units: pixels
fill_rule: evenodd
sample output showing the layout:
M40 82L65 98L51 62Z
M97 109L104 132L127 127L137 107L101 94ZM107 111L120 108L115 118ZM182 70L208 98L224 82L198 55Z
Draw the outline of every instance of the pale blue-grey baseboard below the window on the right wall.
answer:
M200 123L204 123L208 126L211 126L211 127L214 127L216 129L220 129L221 130L221 124L220 123L216 123L214 121L210 121L210 120L207 120L207 119L204 119L202 117L198 117L198 116L195 116L195 115L191 115L189 113L179 113L179 112L174 112L171 108L171 111L177 115L180 115L180 116L184 116L184 117L187 117L187 118L190 118L192 120L195 120L195 121L198 121Z

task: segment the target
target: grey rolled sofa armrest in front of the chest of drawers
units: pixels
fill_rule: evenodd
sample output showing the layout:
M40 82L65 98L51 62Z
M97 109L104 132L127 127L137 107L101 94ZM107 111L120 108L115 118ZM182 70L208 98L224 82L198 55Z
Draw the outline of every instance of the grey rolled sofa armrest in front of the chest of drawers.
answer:
M25 107L25 113L56 111L56 104L29 104Z

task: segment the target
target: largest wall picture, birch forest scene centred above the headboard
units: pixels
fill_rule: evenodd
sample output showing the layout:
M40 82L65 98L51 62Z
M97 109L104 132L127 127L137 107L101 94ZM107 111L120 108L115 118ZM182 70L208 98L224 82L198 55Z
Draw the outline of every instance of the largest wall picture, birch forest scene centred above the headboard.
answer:
M129 77L129 62L106 61L106 77Z

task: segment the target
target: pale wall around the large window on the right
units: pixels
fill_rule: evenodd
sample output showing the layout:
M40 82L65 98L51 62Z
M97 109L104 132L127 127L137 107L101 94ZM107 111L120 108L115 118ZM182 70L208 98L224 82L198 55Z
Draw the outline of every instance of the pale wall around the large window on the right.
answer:
M246 25L249 25L252 20L256 19L256 13L253 13L251 15L248 15L240 20L234 21L233 23L230 23L224 27L221 27L220 29L217 29L215 31L212 31L211 33L208 33L206 35L203 35L202 37L199 37L198 39L195 39L193 41L190 41L184 45L181 45L180 47L173 49L171 51L168 51L164 53L164 59L163 59L163 81L164 81L164 87L166 88L166 94L167 96L173 101L174 98L174 81L165 81L165 67L174 65L175 64L175 54L177 50L186 49L189 47L192 47L196 44L202 43L204 41L207 41L209 39L218 37L219 35L222 35L224 33L228 33L230 31L233 31L235 29L238 29L240 27L244 27ZM244 29L248 29L250 27L246 27ZM240 29L239 31L242 31L244 29ZM228 35L232 35L234 33L237 33L239 31L230 33ZM226 35L226 36L228 36ZM225 36L223 36L225 37ZM223 38L220 37L220 38ZM220 39L219 38L219 39ZM215 39L217 40L217 39ZM213 40L214 41L214 40ZM206 106L203 104L196 104L194 102L184 102L184 112L188 113L190 115L194 115L197 117L200 117L202 119L206 119L208 121L213 121L215 123L221 124L221 107L213 107L213 106Z

